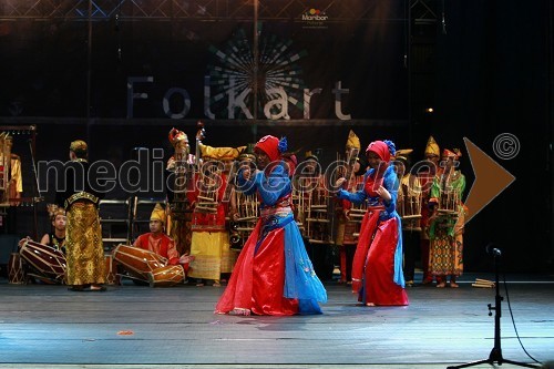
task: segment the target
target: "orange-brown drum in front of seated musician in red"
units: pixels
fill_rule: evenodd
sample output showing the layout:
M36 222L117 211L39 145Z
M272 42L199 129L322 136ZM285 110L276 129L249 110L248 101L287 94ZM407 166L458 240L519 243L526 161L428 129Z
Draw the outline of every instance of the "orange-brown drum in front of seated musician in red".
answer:
M113 259L135 278L148 280L148 273L164 267L167 259L147 249L130 245L117 245L112 252Z

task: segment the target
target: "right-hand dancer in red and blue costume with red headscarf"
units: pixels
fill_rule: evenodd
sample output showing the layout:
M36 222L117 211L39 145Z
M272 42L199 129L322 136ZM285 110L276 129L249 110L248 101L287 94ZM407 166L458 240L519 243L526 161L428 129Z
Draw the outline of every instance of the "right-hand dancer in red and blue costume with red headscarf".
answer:
M355 204L368 203L352 262L352 293L367 306L408 305L402 273L402 228L396 211L398 177L390 158L391 141L373 141L366 150L370 170L363 188L337 196ZM345 180L346 181L346 180Z

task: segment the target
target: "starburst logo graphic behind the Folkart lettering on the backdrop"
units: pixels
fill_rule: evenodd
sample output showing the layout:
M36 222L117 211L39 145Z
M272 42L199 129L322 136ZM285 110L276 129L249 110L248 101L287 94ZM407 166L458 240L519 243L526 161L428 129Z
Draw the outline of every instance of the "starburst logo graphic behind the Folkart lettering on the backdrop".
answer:
M306 85L298 61L307 52L294 51L293 41L266 34L261 27L258 32L257 63L254 42L244 29L239 29L223 48L209 47L213 62L208 65L208 107L214 115L253 119L256 109L258 116L289 119L289 104L302 111Z

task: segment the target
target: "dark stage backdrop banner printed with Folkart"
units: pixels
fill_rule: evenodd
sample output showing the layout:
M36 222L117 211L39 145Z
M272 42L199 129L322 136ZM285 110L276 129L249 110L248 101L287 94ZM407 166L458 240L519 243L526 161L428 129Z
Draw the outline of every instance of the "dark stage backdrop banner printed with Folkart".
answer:
M255 2L4 7L0 115L407 120L404 1Z

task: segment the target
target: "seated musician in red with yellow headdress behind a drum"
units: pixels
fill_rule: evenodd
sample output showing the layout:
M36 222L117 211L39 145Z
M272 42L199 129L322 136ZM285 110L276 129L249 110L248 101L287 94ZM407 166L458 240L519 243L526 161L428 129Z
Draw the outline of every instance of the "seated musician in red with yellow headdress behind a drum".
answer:
M164 225L166 222L165 211L160 204L156 204L152 215L150 217L150 232L140 235L135 242L133 243L134 247L145 249L152 252L156 255L162 256L167 259L167 263L163 267L167 266L181 266L183 269L183 277L178 278L176 283L184 283L186 278L186 273L188 271L188 264L193 259L189 255L179 256L174 240L164 233ZM147 276L150 274L156 273L156 268L148 265L126 265L117 255L114 255L115 260L119 265L122 266L124 270L129 273L130 276L133 277L133 281L137 280L137 285L141 285L141 280L143 283L150 283L152 286L156 285L156 280L148 280ZM144 267L144 270L137 271L137 268ZM175 284L176 284L175 283Z

